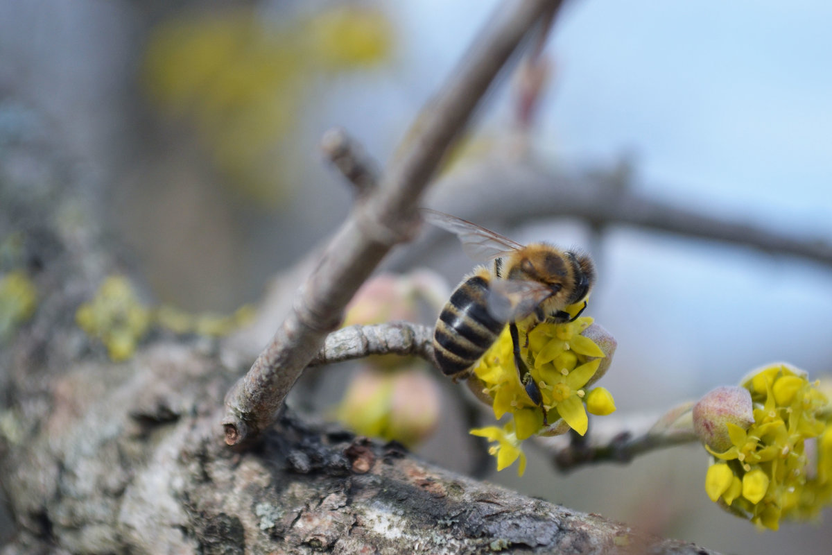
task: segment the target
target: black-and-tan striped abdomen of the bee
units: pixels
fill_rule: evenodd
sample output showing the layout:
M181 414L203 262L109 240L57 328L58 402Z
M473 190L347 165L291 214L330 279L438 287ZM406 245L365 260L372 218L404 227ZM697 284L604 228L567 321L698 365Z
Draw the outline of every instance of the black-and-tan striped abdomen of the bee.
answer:
M474 275L453 291L433 330L433 353L446 375L459 374L483 356L505 322L488 313L488 280Z

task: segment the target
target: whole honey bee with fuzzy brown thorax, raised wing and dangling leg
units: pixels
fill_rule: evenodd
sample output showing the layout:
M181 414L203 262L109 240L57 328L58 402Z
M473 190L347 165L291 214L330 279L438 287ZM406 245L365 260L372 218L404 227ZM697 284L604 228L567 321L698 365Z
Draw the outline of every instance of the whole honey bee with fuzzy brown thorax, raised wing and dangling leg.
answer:
M465 276L439 313L433 330L433 353L439 369L454 379L463 377L508 324L520 383L532 403L542 406L540 388L520 354L518 321L527 322L529 331L541 322L577 319L587 308L586 300L577 315L563 309L584 299L592 289L592 259L547 243L521 245L443 212L423 209L423 216L457 235L473 260L493 260L493 270L478 266ZM543 423L547 424L545 409Z

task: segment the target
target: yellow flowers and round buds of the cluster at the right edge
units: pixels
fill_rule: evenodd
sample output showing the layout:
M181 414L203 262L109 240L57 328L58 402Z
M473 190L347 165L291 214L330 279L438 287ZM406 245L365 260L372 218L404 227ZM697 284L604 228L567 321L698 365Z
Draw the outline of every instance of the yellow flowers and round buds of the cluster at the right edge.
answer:
M776 530L780 520L815 517L832 500L829 401L817 382L771 364L740 384L754 403L748 429L727 424L731 446L716 453L705 489L712 501Z

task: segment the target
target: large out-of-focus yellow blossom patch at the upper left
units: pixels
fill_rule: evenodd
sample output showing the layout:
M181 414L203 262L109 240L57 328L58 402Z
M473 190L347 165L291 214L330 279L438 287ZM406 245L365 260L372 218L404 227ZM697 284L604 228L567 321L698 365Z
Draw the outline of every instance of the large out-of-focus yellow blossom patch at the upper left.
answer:
M373 7L188 12L152 29L141 77L155 107L191 123L235 191L275 206L291 191L300 121L321 78L379 65L393 41Z

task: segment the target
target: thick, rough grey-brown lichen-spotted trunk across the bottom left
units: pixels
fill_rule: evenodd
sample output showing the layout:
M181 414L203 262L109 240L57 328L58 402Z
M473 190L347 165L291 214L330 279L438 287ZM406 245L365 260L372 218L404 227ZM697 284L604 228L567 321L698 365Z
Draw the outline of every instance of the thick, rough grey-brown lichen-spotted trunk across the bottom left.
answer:
M0 126L0 237L22 236L38 305L0 344L0 484L15 528L2 555L712 553L290 409L255 444L227 447L223 396L250 360L156 332L116 364L83 334L78 306L129 269L97 228L92 172L15 110Z

